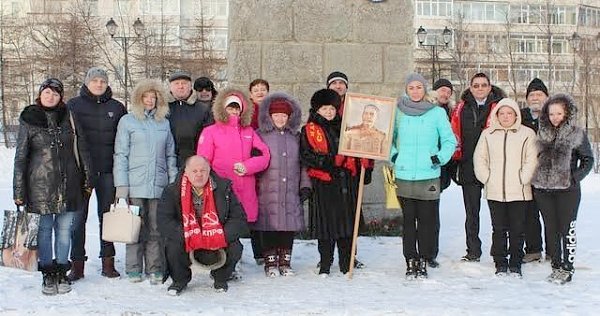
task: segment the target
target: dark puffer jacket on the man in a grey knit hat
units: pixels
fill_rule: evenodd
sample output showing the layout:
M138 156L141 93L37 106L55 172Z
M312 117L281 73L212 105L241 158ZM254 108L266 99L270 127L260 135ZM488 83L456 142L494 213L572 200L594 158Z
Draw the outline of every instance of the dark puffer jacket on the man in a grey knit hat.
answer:
M125 106L112 98L110 87L101 96L95 96L83 85L79 96L69 100L67 107L81 126L81 135L93 157L92 173L112 173L117 125L127 113Z

